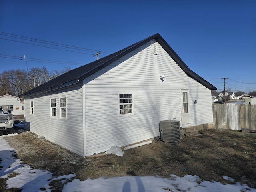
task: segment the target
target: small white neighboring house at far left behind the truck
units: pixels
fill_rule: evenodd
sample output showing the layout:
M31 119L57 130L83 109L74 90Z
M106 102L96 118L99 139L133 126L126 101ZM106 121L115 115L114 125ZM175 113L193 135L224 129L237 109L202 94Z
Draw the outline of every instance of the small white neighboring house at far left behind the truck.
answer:
M22 98L12 95L0 96L0 106L4 111L11 111L13 115L24 115L24 102Z

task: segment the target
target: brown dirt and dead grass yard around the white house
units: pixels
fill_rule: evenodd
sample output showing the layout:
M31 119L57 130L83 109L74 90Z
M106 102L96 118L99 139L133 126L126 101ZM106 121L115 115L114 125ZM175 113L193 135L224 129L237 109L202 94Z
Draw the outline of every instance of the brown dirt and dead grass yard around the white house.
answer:
M151 144L126 150L123 157L109 154L82 158L31 132L5 139L17 151L24 164L49 170L56 176L75 173L80 180L100 176L150 176L170 178L171 174L200 176L202 180L235 182L256 188L256 134L234 130L203 130L202 136L186 137L178 144L154 140ZM60 181L51 185L61 191ZM0 190L5 182L0 180ZM14 192L16 189L5 190Z

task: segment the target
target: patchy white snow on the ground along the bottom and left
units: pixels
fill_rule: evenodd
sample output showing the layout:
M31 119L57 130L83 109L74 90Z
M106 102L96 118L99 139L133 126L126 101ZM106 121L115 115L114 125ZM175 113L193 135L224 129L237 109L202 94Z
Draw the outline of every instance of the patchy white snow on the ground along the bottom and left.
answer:
M13 136L15 134L10 134ZM186 175L178 177L172 175L172 179L160 178L157 176L124 176L114 178L98 178L80 181L70 181L75 175L64 175L55 177L49 171L34 169L22 164L22 161L15 158L15 150L0 136L0 178L8 178L7 188L20 188L22 191L47 191L50 192L49 183L53 180L62 180L64 183L63 192L256 192L256 189L240 183L221 184L215 181L202 181L198 176ZM16 172L16 176L10 173ZM234 181L232 178L223 176L224 179Z

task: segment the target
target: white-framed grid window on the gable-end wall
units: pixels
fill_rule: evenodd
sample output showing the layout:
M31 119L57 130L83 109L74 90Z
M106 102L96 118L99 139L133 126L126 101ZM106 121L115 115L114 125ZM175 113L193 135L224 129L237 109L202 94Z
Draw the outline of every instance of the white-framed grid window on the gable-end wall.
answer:
M133 95L119 94L119 114L133 113Z

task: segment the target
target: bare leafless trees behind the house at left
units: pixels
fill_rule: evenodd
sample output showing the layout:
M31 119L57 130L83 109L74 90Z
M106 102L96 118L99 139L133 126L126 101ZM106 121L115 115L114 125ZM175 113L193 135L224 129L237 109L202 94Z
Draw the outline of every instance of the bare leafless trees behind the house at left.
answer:
M24 92L68 71L70 71L69 67L61 71L48 71L45 66L41 68L30 68L30 70L5 70L0 73L0 96L9 94L19 97Z

